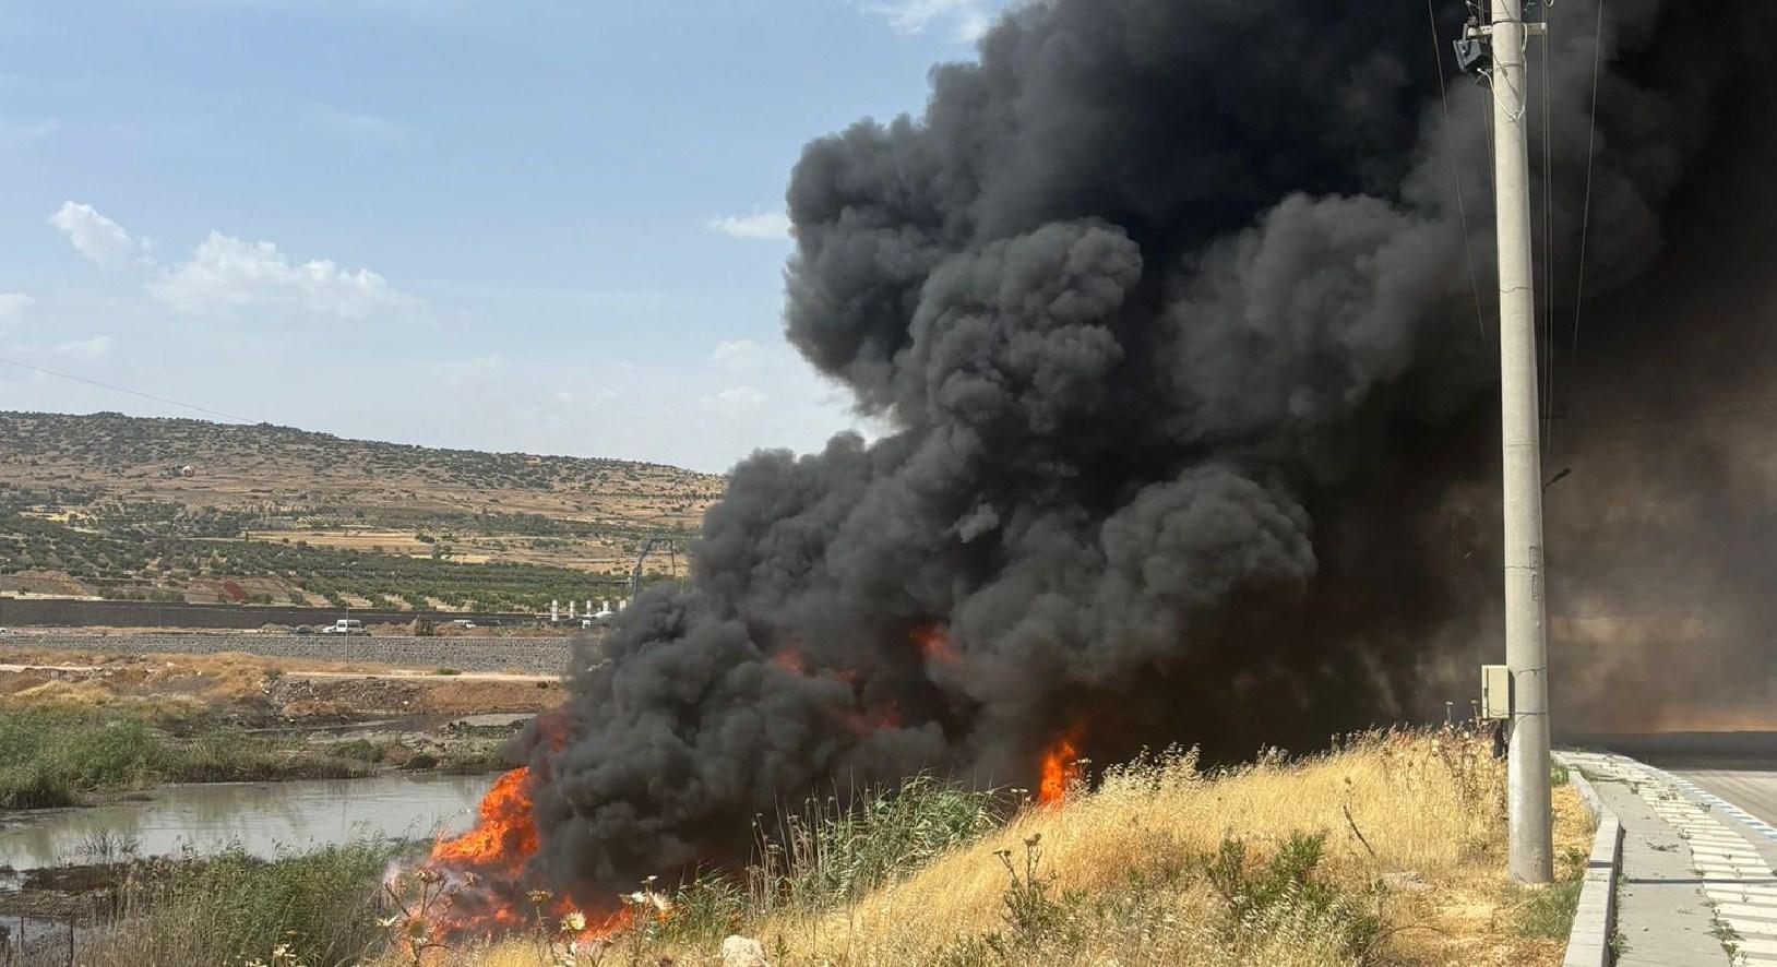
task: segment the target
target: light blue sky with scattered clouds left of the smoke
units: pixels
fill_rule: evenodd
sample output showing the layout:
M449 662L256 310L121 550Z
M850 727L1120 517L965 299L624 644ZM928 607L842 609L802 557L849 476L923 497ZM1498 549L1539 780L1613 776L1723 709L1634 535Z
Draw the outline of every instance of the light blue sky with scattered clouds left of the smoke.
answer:
M343 436L725 469L855 425L782 341L801 146L1004 0L11 0L0 359ZM14 364L0 409L201 416Z

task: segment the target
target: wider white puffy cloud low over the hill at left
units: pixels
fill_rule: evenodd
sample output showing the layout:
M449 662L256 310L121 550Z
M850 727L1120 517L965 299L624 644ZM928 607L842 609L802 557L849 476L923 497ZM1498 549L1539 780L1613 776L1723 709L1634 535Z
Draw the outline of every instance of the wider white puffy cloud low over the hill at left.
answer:
M418 302L370 268L348 272L329 260L291 265L270 242L245 242L219 231L197 245L192 261L149 283L147 292L183 313L290 306L364 318Z

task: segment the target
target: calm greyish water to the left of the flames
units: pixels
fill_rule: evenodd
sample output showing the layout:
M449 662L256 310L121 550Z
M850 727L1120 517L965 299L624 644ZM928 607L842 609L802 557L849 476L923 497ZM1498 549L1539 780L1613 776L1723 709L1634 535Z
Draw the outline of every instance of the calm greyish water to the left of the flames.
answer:
M163 786L146 802L0 814L0 867L96 862L101 839L142 857L213 853L240 843L259 857L366 835L462 832L492 786L487 775L380 775L315 782Z

